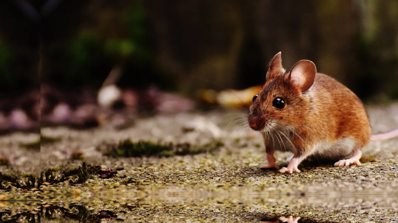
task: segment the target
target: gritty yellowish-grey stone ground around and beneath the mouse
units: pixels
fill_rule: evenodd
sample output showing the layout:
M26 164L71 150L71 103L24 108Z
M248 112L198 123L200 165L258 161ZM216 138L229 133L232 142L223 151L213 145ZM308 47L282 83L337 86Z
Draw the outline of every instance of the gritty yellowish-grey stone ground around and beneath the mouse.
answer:
M398 103L367 110L374 134L398 127ZM214 110L142 118L119 131L106 125L90 130L43 128L42 135L57 140L42 144L41 168L78 167L82 160L70 157L82 152L86 163L117 168L118 173L109 179L95 175L82 184L43 184L41 205L31 204L30 212L26 206L18 210L12 202L0 203L0 210L24 219L41 217L41 222L275 222L289 215L301 217L298 222L398 222L398 138L367 145L361 167L311 163L301 165L301 173L281 174L259 169L266 163L262 138L249 128L232 126L236 117L242 115ZM34 138L20 134L1 142L25 135L25 140ZM161 144L222 142L223 146L186 156L103 155L109 150L107 144L127 138ZM27 150L17 147L13 153ZM290 155L276 153L277 164L287 166ZM25 158L29 166L25 170L35 173L37 163L29 161L35 155ZM19 190L7 196L38 193Z

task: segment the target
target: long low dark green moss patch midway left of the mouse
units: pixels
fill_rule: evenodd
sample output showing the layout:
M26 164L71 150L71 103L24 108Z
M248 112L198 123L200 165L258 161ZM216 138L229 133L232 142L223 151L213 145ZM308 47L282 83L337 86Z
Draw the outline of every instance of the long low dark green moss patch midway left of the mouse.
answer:
M131 139L121 140L119 144L107 145L103 154L110 157L142 157L142 156L185 156L213 152L224 146L220 141L193 146L190 143L155 144L148 141L132 142Z

